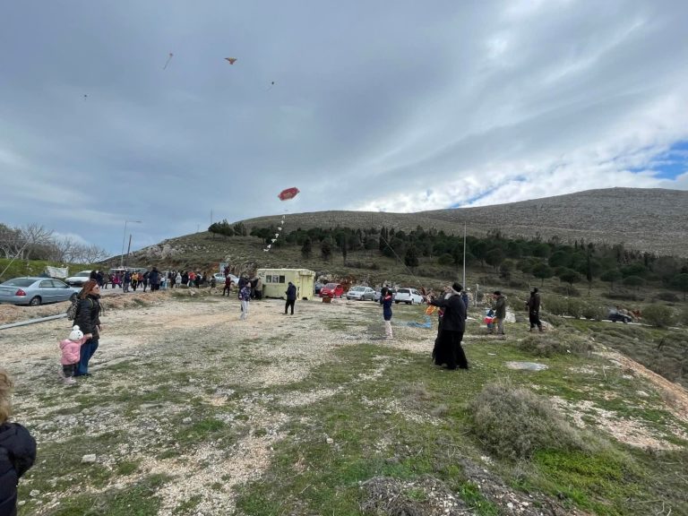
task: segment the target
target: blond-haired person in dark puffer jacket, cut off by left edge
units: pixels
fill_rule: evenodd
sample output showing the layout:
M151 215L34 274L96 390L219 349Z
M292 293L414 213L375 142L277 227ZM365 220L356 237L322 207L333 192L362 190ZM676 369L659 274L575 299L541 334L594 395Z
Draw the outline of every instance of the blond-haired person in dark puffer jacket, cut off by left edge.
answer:
M36 440L17 423L8 423L12 380L0 369L0 514L17 513L17 484L36 460Z

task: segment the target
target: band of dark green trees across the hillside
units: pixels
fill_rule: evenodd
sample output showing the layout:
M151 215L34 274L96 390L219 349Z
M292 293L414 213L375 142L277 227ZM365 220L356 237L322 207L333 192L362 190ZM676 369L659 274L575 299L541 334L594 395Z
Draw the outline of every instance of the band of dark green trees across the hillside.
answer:
M225 227L229 227L228 224ZM231 235L246 235L241 223L230 229ZM325 261L340 253L346 263L349 251L363 249L398 258L409 268L417 267L421 258L456 267L460 267L464 260L463 236L448 235L434 228L418 226L409 232L386 227L297 228L271 242L274 234L279 232L278 228L270 226L252 228L249 234L262 238L273 247L298 245L305 258L317 253ZM229 235L229 232L222 234ZM548 240L539 236L508 238L495 229L484 237L467 236L465 258L468 264L492 267L506 280L512 271L519 270L542 282L554 277L570 286L585 282L591 284L597 279L608 282L610 288L615 284L634 289L658 284L681 290L684 299L688 292L688 261L628 249L624 244L595 244L583 239L562 242L556 236Z

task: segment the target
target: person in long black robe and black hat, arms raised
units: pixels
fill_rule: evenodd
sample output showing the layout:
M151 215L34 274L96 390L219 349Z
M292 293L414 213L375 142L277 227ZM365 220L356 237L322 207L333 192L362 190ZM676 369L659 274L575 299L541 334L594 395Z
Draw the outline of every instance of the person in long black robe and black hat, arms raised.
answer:
M442 299L431 299L429 304L443 309L442 328L435 346L434 363L437 366L447 365L447 369L468 369L469 362L461 348L463 332L466 330L466 305L461 299L461 286L452 285L451 296Z

